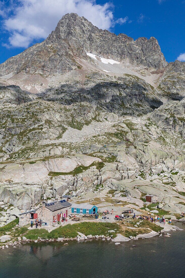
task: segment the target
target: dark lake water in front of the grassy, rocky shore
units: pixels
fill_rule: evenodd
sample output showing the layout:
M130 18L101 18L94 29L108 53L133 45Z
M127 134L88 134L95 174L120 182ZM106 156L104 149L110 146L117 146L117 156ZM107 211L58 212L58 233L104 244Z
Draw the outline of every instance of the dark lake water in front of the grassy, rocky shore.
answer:
M176 224L185 229L185 223ZM1 278L185 277L185 231L120 245L92 240L26 243L0 249ZM136 246L133 247L132 245Z

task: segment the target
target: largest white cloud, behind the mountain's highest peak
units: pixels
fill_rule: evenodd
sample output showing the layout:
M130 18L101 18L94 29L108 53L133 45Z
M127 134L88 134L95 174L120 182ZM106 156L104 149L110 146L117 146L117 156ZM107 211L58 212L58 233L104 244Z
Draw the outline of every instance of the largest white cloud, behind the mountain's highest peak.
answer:
M47 38L66 13L77 13L98 28L109 29L114 25L111 9L111 4L98 5L95 0L19 0L19 5L12 5L13 15L4 19L4 29L10 33L9 46L27 48L34 40Z

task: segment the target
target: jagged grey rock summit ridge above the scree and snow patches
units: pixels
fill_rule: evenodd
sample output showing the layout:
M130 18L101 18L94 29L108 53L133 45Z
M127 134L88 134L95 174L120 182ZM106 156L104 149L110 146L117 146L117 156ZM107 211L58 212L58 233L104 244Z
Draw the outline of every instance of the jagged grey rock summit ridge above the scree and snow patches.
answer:
M1 76L21 71L63 74L77 68L75 56L87 60L86 52L147 68L159 69L167 65L155 38L134 41L125 34L115 35L99 29L86 18L71 13L63 16L45 41L1 64Z

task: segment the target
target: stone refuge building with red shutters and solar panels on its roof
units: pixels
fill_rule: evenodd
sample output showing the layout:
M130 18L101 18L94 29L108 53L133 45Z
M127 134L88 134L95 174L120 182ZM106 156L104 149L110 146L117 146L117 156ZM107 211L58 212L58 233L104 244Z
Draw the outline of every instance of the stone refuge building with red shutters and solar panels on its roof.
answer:
M38 209L30 210L19 214L19 226L30 224L31 220L41 219L42 222L52 226L54 222L60 221L61 217L66 218L71 213L71 203L66 200L44 203Z

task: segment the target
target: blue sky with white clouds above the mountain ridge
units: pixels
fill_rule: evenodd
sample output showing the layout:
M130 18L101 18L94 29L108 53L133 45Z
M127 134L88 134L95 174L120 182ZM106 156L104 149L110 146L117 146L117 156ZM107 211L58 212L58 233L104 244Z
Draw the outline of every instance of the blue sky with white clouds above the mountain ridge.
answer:
M168 62L185 61L185 0L0 0L0 63L43 41L71 12L115 34L154 36Z

